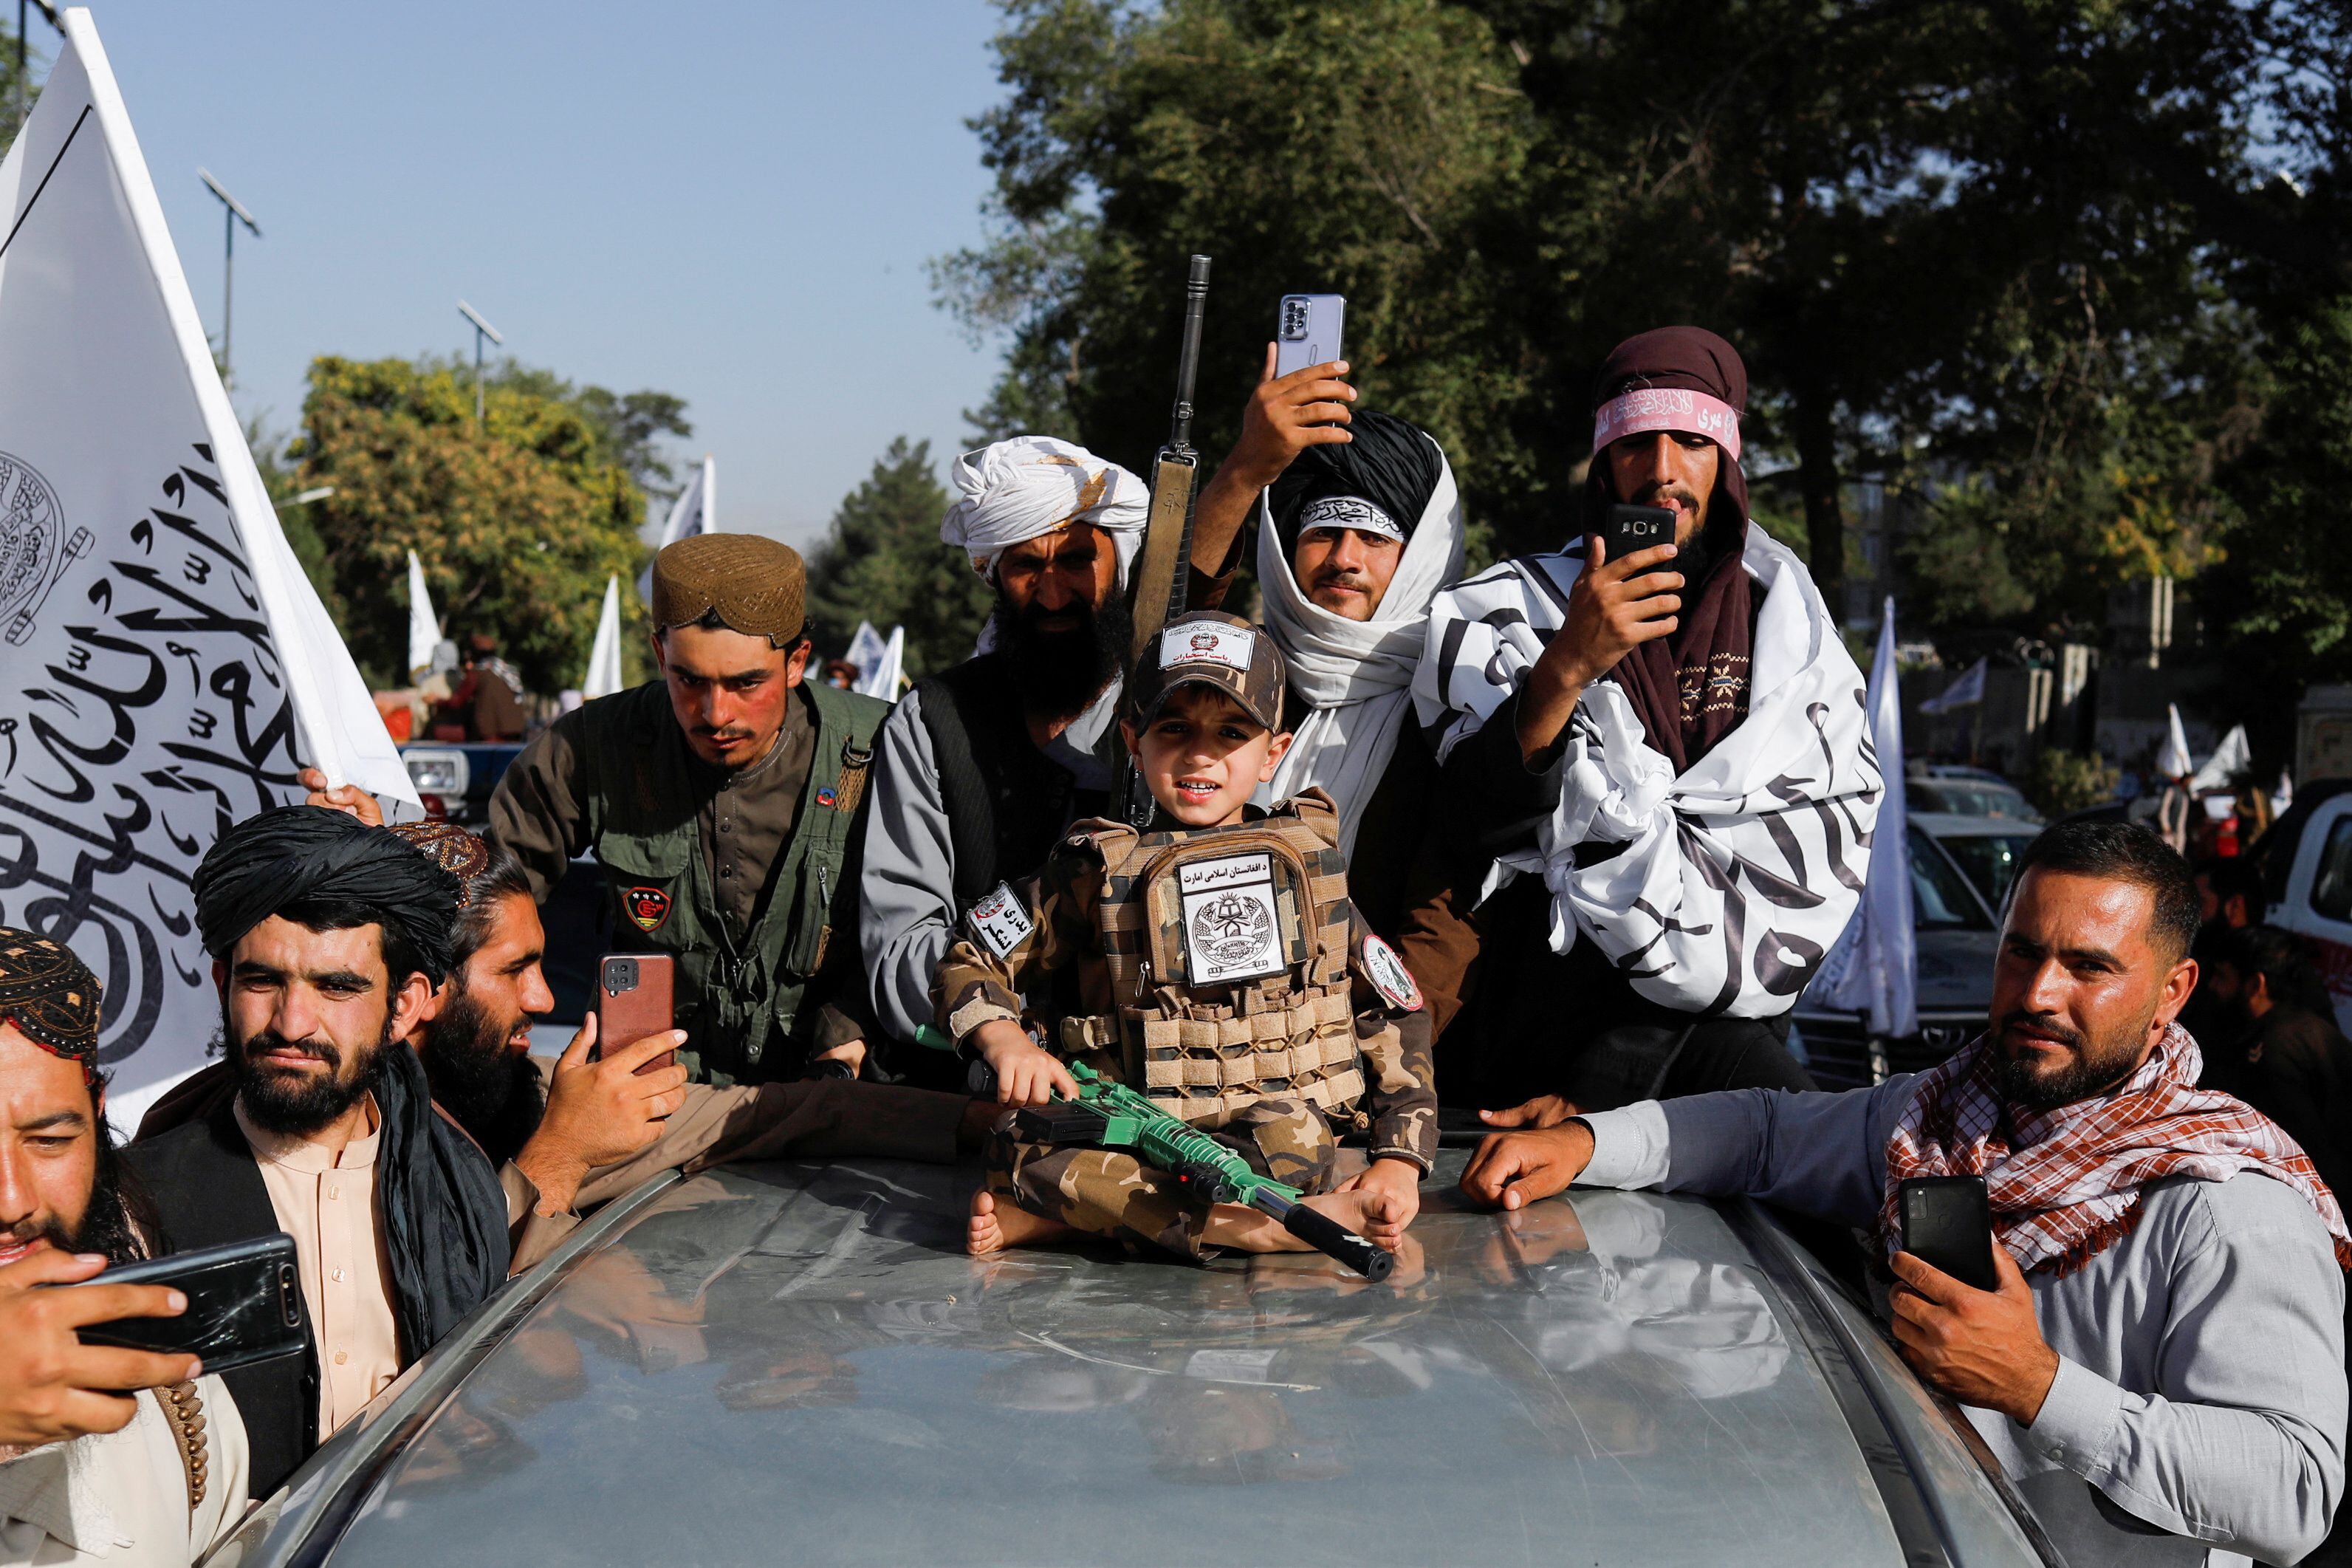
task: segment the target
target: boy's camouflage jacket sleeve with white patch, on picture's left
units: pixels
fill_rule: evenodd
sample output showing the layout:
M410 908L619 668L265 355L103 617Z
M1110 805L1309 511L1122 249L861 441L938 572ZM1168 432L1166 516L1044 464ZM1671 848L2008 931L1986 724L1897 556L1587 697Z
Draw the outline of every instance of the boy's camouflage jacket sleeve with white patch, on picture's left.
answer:
M1103 858L1073 837L1035 877L971 905L931 980L938 1027L964 1044L983 1023L1021 1023L1021 994L1089 952L1101 893Z

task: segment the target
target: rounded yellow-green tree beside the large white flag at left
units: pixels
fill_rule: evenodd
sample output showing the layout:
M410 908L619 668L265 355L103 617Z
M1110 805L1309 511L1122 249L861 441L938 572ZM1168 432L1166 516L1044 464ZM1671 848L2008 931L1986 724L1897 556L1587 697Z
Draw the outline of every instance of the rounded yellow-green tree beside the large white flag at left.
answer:
M301 487L334 487L308 522L343 639L381 684L405 675L409 550L449 635L492 632L536 691L579 684L604 581L644 564L644 491L607 433L569 397L506 381L477 423L470 367L313 360L287 458ZM642 644L633 592L621 614L626 646Z

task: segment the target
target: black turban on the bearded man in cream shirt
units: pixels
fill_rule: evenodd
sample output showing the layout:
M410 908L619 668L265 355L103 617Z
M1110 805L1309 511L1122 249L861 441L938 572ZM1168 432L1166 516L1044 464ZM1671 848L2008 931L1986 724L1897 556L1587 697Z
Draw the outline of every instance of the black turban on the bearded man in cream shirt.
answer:
M433 985L449 973L463 886L383 830L325 806L278 806L214 842L195 867L195 924L205 952L226 959L238 938L289 907L355 903L407 938ZM393 976L393 985L402 976Z

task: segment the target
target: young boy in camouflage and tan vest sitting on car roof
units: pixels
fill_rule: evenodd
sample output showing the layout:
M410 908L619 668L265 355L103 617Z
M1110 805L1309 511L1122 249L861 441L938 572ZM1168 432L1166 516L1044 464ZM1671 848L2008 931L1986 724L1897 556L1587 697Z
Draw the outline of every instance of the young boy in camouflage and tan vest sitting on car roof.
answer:
M1348 900L1329 797L1249 804L1291 741L1282 686L1279 649L1247 621L1171 621L1122 722L1160 806L1150 832L1082 823L1018 893L976 903L934 1001L957 1046L995 1070L1002 1103L1075 1095L1063 1060L1082 1060L1395 1251L1437 1152L1428 1016ZM1371 1168L1338 1185L1334 1126L1371 1133ZM1305 1246L1256 1208L1183 1194L1134 1154L1021 1143L1007 1117L967 1248L1070 1229L1195 1258Z

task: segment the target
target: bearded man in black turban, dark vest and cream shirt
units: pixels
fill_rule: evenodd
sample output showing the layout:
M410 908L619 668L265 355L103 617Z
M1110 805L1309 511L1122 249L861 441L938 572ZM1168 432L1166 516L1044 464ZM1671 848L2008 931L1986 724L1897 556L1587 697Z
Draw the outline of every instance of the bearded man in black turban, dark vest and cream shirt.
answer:
M341 811L280 806L228 827L193 891L235 1093L125 1161L162 1251L294 1237L308 1354L226 1378L268 1495L499 1288L506 1194L407 1048L449 973L456 877Z

